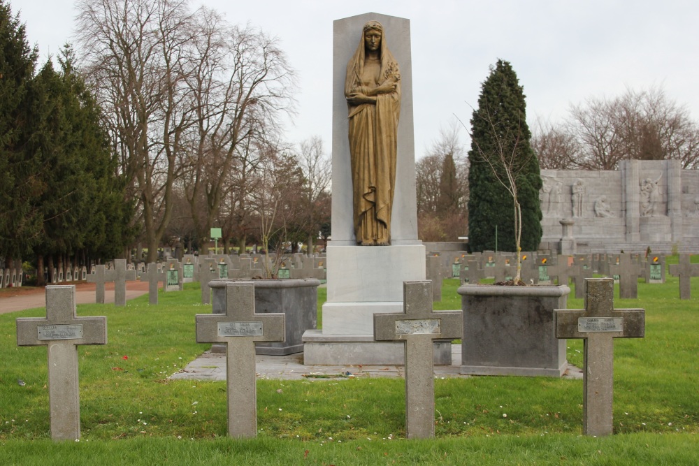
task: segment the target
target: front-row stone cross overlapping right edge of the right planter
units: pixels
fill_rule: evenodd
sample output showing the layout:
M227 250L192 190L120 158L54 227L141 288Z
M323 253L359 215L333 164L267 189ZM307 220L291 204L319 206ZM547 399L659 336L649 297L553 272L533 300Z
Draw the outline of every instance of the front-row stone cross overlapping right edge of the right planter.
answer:
M612 433L614 338L642 338L645 311L614 309L614 280L585 280L584 310L554 310L556 338L584 339L582 430Z

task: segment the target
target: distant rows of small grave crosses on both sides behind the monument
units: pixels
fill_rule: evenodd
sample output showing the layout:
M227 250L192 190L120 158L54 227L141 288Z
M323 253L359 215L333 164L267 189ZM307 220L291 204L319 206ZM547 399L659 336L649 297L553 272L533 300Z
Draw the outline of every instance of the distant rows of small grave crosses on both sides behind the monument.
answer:
M434 247L445 247L434 243ZM582 298L585 278L593 273L614 277L621 284L622 298L635 298L635 283L639 278L647 283L665 283L665 256L663 254L572 254L561 255L542 252L522 253L522 279L527 284L575 284L576 298ZM495 279L503 282L514 275L514 254L507 252L486 251L470 254L465 250L432 251L426 257L426 277L433 281L433 297L441 300L441 281L445 278L459 278L461 284L478 283L482 279ZM126 261L122 261L126 263ZM686 262L686 265L684 263ZM123 266L123 265L122 265ZM115 263L101 266L102 270L115 270ZM686 267L686 270L684 270ZM134 270L142 281L150 281L145 263L128 263L127 270ZM181 289L182 283L206 282L210 279L296 279L313 278L322 282L326 280L326 256L315 254L289 254L279 259L275 254L241 254L194 256L185 254L182 261L170 259L158 262L155 273L157 282L164 282L168 291ZM680 276L680 288L689 290L689 277L699 275L697 265L689 265L689 255L680 256L679 265L670 265L670 273ZM64 282L95 282L96 266L90 270L86 267L64 270L57 268L47 282L59 284ZM102 273L102 272L101 272ZM203 274L206 274L203 275ZM0 273L0 288L22 286L22 270L4 269ZM113 282L114 277L99 278L102 282ZM683 296L684 298L684 296Z

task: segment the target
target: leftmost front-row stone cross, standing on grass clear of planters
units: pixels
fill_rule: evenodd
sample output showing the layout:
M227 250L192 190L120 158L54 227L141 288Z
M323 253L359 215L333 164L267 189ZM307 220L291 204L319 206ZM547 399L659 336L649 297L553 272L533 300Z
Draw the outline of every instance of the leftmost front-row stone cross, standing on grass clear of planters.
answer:
M75 285L46 286L46 318L17 319L17 345L48 349L51 438L80 438L78 344L107 344L106 317L75 314Z

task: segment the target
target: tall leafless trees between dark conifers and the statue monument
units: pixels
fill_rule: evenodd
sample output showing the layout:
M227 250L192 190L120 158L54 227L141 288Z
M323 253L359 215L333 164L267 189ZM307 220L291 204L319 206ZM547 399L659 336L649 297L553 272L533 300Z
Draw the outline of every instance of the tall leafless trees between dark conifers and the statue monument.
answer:
M80 0L77 9L82 70L137 200L147 261L174 235L206 252L212 226L226 244L244 246L252 231L261 240L292 221L275 196L317 203L328 182L314 181L306 154L327 163L322 142L297 151L282 141L296 80L275 38L186 0ZM320 215L307 217L293 223L312 238Z

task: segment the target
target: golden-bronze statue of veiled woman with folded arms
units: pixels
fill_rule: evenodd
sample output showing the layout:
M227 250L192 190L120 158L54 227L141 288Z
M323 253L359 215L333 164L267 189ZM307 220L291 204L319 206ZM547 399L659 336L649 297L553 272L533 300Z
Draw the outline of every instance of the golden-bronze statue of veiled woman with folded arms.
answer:
M396 186L401 73L380 22L364 24L359 46L347 63L354 235L358 245L391 241L391 208Z

